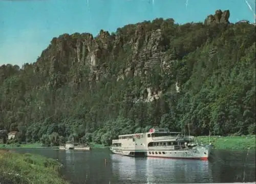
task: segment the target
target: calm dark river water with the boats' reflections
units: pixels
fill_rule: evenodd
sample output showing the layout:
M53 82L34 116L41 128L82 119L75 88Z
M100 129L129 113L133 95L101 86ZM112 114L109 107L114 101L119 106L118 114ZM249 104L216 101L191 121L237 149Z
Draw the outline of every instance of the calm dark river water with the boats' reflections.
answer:
M111 154L105 148L91 151L22 148L15 151L57 159L64 165L63 175L73 184L242 182L244 172L245 181L255 181L253 151L246 159L247 152L214 150L209 161L134 158Z

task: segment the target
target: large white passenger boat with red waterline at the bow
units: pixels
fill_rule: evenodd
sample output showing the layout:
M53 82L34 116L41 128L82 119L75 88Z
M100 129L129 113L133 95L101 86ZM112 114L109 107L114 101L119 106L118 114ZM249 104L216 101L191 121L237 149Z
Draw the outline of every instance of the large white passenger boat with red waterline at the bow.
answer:
M198 145L193 136L151 128L148 133L120 135L112 140L110 150L127 156L163 157L169 159L208 160L212 145Z

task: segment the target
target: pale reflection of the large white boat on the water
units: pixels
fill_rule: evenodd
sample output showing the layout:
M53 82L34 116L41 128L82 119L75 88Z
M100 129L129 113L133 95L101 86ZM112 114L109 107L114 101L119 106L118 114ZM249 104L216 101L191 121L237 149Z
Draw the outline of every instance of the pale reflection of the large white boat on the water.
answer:
M111 156L112 169L120 183L213 182L209 161Z

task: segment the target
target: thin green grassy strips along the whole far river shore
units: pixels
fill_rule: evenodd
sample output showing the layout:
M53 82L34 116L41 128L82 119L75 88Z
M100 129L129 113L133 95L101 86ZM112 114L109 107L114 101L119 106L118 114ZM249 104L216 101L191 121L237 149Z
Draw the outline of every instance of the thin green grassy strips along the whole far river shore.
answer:
M208 144L209 141L214 145L215 149L226 149L226 150L247 150L248 148L255 150L255 135L250 136L198 136L195 141L203 144ZM91 148L108 148L97 143L90 143ZM0 144L1 148L16 149L16 148L52 148L58 149L58 146L45 147L40 143L28 143L28 144Z

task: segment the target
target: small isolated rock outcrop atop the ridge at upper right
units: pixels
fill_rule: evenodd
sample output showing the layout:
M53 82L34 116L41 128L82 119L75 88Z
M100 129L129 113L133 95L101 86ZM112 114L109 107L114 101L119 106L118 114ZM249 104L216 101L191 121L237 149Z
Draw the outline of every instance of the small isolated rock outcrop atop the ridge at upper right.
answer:
M204 20L204 24L210 25L212 23L229 23L230 13L229 10L222 12L221 10L216 10L214 15L208 15Z

